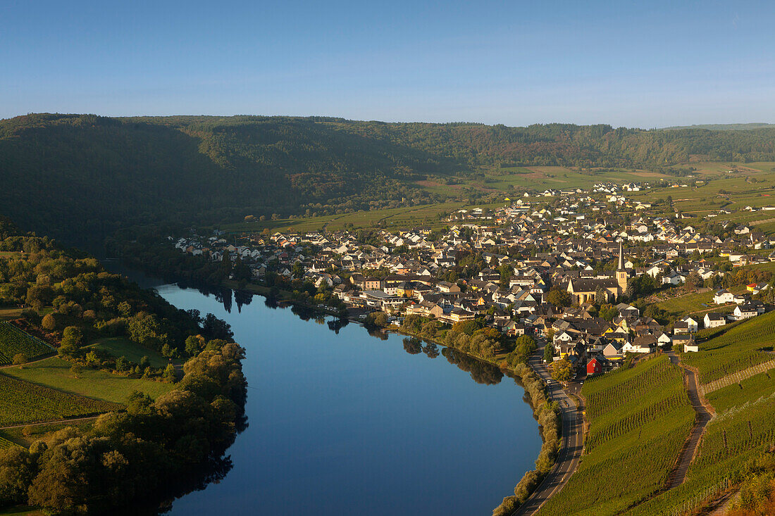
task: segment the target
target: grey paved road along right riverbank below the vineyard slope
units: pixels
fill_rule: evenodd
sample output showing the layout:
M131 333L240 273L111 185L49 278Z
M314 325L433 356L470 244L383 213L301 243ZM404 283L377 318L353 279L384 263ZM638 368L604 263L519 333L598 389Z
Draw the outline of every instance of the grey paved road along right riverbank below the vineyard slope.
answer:
M529 363L544 381L551 380L549 371L543 364L543 349L537 349L530 356ZM568 385L567 390L570 394L578 394L581 386L578 382L572 382ZM577 408L567 392L556 382L552 382L548 386L548 392L553 401L560 402L563 447L557 454L557 462L553 469L546 475L538 489L525 500L524 504L519 506L514 513L515 516L536 514L550 497L562 490L570 476L576 471L581 459L581 450L584 448L584 419L581 414L584 407Z

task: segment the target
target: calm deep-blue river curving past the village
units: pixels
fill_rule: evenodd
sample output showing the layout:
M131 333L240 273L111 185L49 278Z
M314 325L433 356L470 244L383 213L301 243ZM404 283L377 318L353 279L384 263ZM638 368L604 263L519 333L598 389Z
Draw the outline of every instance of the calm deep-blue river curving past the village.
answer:
M536 420L494 367L453 350L408 353L419 350L401 335L305 320L260 296L157 290L232 325L250 385L232 470L174 501L174 516L490 514L534 467Z

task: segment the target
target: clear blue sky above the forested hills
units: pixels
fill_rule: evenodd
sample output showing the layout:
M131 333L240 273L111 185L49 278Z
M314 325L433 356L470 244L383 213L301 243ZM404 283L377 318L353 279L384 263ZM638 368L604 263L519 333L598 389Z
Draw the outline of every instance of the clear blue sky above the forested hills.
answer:
M0 117L775 122L775 2L0 2Z

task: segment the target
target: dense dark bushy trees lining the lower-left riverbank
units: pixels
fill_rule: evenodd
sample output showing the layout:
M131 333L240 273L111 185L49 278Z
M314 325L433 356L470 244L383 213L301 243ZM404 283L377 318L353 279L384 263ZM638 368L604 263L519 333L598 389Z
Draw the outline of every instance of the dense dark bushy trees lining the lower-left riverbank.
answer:
M135 393L126 412L108 412L90 429L64 428L48 443L0 452L0 507L117 512L219 478L202 466L226 466L222 452L242 425L243 356L234 343L208 343L185 364L177 390L156 401Z

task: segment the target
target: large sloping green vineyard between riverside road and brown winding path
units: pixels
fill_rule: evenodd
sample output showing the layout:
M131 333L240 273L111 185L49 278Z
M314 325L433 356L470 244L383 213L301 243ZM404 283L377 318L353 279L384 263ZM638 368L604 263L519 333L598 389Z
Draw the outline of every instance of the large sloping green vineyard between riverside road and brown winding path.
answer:
M587 380L582 394L591 422L584 456L538 514L626 511L664 487L694 424L683 374L668 356Z

